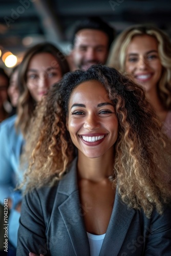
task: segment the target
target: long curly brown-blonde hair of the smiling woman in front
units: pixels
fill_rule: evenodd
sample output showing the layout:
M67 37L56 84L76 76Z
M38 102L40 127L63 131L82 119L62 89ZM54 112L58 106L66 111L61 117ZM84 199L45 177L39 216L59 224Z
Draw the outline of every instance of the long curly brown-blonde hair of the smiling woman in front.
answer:
M94 65L87 71L70 72L48 92L36 108L27 137L24 162L30 157L23 184L27 189L52 185L62 178L76 156L66 127L68 103L75 87L99 81L109 94L118 118L115 143L114 185L129 207L143 208L150 216L154 206L170 199L170 141L145 100L143 89L114 68Z

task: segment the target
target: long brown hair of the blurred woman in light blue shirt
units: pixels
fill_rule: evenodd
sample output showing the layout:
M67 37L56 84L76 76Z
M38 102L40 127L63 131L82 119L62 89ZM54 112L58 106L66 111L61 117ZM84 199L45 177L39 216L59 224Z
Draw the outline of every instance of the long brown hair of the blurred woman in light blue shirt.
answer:
M18 88L20 95L17 104L17 119L15 122L16 130L20 130L24 137L26 136L30 119L36 106L36 102L27 87L27 69L31 58L38 53L52 54L59 64L62 75L70 71L66 57L49 42L37 44L26 52L18 68Z

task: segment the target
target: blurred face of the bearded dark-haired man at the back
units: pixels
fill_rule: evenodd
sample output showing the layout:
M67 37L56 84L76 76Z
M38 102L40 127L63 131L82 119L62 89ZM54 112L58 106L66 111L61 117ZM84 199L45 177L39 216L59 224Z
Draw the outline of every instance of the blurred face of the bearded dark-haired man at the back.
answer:
M94 64L104 64L108 57L108 42L108 36L100 30L78 31L72 52L76 68L87 70Z

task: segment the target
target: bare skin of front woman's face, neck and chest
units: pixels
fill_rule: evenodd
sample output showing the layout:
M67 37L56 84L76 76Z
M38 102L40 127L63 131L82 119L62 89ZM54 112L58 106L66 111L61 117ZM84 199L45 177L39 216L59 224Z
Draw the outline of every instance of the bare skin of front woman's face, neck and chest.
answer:
M108 177L112 174L118 120L113 102L100 82L83 82L74 89L67 127L78 148L80 201L90 209L84 215L86 230L103 234L109 225L115 198ZM104 137L97 142L85 142L82 136Z

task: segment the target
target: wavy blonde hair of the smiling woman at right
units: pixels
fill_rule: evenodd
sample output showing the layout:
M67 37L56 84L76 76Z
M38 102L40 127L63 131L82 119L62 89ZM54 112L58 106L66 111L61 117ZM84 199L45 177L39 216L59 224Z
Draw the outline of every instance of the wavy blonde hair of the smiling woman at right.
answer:
M125 73L126 49L137 35L150 35L158 42L158 52L163 67L157 84L158 96L164 109L171 110L171 42L160 29L150 25L134 25L124 30L113 42L107 61L108 66Z

